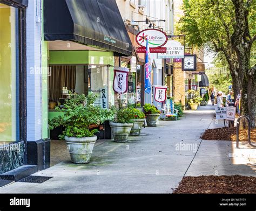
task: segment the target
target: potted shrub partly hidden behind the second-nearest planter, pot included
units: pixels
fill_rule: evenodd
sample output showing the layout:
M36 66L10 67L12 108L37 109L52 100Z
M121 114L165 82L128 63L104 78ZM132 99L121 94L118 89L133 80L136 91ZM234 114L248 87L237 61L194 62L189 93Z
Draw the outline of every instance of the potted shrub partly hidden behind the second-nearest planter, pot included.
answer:
M131 129L130 135L131 136L139 136L140 131L142 131L143 123L145 121L145 114L136 108L131 109L131 111L132 111L132 115L133 115L133 119L132 119L133 126Z

